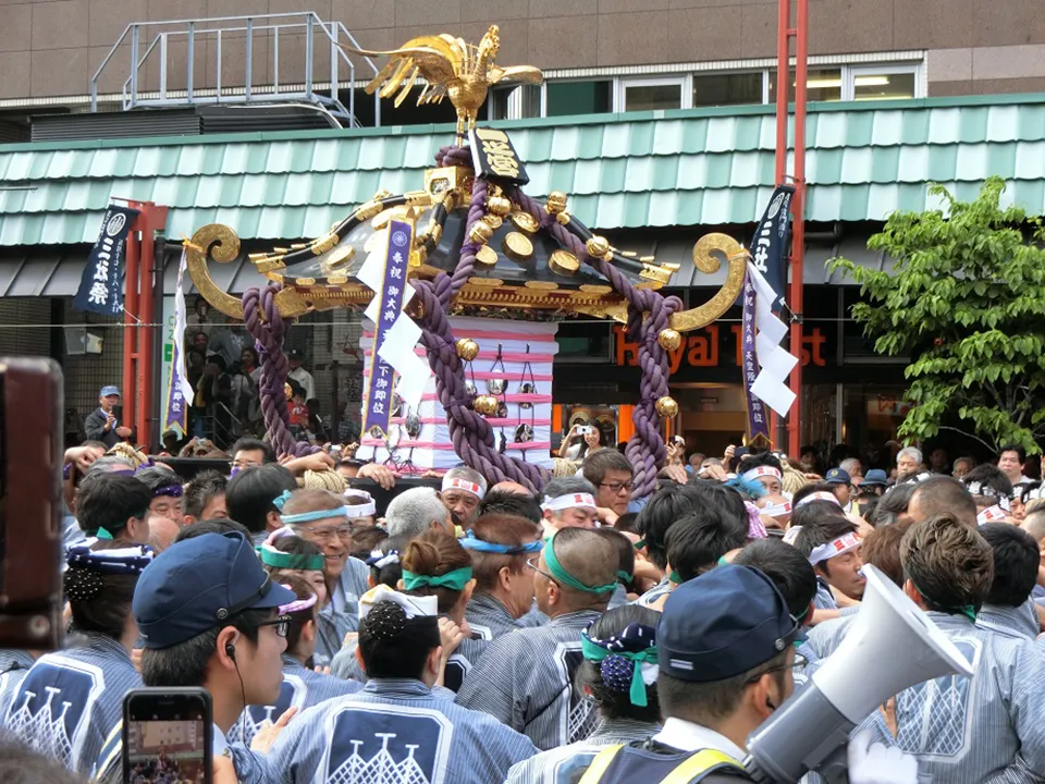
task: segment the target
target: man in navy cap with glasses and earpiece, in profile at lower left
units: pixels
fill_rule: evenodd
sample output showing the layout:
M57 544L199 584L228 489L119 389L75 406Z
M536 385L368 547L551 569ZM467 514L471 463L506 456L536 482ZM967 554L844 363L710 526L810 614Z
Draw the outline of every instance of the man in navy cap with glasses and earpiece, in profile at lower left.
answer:
M213 700L214 757L231 757L244 781L263 780L265 763L228 733L247 705L275 702L282 654L296 600L272 583L242 534L205 534L173 544L142 573L133 613L145 641L146 686L202 686ZM285 723L285 722L284 722ZM101 781L122 781L121 733L99 757Z

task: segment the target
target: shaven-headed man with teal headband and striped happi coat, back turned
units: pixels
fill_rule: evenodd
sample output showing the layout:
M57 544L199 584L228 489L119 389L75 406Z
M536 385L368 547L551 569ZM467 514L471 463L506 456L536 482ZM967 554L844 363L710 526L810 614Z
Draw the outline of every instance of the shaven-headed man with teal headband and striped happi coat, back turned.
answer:
M583 740L598 724L573 688L583 661L581 632L606 611L617 586L617 552L585 528L564 528L528 560L537 605L551 621L494 639L465 676L457 703L491 714L540 749Z

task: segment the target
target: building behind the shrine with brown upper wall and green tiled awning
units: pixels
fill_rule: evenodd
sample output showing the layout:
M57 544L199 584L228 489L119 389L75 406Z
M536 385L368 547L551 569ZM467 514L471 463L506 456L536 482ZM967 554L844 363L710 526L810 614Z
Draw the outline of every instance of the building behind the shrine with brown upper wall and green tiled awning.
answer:
M1004 13L973 0L810 3L803 442L885 443L902 415L903 362L870 350L849 318L857 290L827 273L829 258L890 264L866 240L892 211L934 206L929 182L968 198L999 174L1007 198L1045 211L1045 97L1030 94L1045 90L1045 17L1034 2L1003 4ZM388 49L440 32L477 41L499 24L499 62L546 76L537 87L493 89L484 111L527 161L528 192L565 191L570 210L618 247L679 264L667 289L690 306L723 278L697 273L693 243L709 231L749 243L774 185L774 2L51 0L0 9L0 139L11 143L0 145L0 353L62 362L71 439L97 389L120 377L122 326L70 305L110 197L170 207L169 242L158 244L157 343L165 348L182 237L210 222L234 226L244 256L216 278L241 293L263 282L246 253L320 234L379 188L419 187L451 140L451 126L431 124L448 120L448 107L385 100L376 109L361 90L370 63L332 54L334 33L339 46L351 34ZM239 16L249 19L226 19ZM138 22L135 44L125 30ZM295 124L272 119L279 107L249 106L248 87L255 99L305 89L330 100L314 101L322 117L311 124ZM348 106L346 96L354 117L329 124L364 127L328 127L337 114L331 100ZM155 111L121 111L132 99ZM672 359L678 428L709 452L743 429L738 328L730 311L688 335ZM310 315L290 336L335 425L357 412L360 335L358 317L334 311ZM619 330L567 321L558 339L558 425L576 408L626 413L638 372ZM160 362L167 354L157 352ZM161 368L156 375L165 379Z

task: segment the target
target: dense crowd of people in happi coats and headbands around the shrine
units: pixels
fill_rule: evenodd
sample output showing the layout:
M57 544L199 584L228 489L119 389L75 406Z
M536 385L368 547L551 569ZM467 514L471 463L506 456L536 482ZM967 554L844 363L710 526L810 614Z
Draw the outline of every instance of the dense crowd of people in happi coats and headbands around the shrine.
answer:
M193 477L119 439L69 450L66 642L0 652L4 739L119 782L127 691L201 686L219 782L752 780L748 738L837 654L873 564L973 675L868 716L849 781L1045 781L1022 449L870 468L673 440L638 498L602 439L569 433L537 494L253 438Z

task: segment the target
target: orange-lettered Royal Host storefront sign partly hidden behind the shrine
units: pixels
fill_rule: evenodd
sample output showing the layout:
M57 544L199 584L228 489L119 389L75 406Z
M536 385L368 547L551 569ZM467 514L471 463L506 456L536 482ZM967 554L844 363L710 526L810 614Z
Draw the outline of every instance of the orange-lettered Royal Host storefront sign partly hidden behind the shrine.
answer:
M742 324L725 326L713 323L702 330L684 335L683 344L673 352L668 352L672 373L687 368L706 368L734 365L743 367L742 356ZM619 367L637 367L639 364L639 344L628 341L624 327L615 326L616 351L614 362ZM808 324L802 331L802 367L814 365L825 367L827 339L820 327L810 328Z

